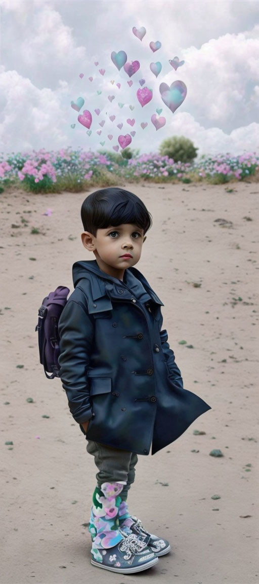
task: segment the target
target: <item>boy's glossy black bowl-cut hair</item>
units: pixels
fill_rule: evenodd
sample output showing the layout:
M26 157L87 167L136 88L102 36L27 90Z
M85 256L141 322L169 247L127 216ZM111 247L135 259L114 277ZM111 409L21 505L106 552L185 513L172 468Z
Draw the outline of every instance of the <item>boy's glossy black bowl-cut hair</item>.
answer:
M96 237L97 229L132 223L143 229L152 225L152 215L136 194L118 187L96 190L83 201L81 219L85 231Z

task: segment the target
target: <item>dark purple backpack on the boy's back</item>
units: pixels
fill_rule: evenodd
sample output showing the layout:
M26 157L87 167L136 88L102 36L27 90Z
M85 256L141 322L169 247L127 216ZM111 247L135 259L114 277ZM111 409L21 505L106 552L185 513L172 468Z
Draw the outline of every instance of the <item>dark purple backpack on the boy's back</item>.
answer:
M69 288L58 286L54 292L50 292L44 298L41 307L38 309L38 324L35 331L38 331L40 363L43 364L44 373L48 379L60 377L58 321L65 304L67 304L68 294ZM51 375L48 375L47 371Z

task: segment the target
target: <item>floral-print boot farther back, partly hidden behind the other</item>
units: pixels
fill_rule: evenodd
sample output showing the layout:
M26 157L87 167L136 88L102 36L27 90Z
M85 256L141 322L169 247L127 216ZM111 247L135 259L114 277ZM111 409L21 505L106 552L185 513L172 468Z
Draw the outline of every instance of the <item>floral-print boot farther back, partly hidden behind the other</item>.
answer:
M154 551L157 556L168 554L171 549L169 541L164 540L162 537L154 536L152 533L146 531L140 519L135 517L135 515L129 515L128 503L126 503L126 501L121 501L118 516L120 528L125 531L125 533L135 533L136 536L143 537L144 541L146 541L146 545L148 545L150 550Z

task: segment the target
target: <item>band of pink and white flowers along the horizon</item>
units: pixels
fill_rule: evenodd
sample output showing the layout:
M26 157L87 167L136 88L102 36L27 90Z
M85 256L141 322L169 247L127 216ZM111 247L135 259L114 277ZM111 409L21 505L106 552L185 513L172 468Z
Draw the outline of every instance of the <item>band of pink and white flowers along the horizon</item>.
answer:
M259 156L203 155L190 163L174 162L159 154L124 158L113 152L92 152L62 148L48 152L0 154L0 191L22 187L30 192L79 192L91 186L112 186L118 179L127 182L208 182L222 184L248 177L259 180Z

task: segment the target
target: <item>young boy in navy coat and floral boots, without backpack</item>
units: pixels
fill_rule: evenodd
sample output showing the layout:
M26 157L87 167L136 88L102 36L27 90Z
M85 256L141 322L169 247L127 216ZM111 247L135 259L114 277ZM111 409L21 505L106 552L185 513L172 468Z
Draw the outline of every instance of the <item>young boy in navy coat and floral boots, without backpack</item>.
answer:
M97 190L83 201L82 243L95 260L73 266L75 290L62 311L60 377L69 409L95 457L91 563L139 572L170 551L129 514L138 454L152 455L211 409L183 388L162 329L163 303L135 264L152 221L135 194ZM160 237L160 236L159 236Z

